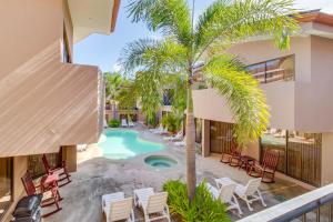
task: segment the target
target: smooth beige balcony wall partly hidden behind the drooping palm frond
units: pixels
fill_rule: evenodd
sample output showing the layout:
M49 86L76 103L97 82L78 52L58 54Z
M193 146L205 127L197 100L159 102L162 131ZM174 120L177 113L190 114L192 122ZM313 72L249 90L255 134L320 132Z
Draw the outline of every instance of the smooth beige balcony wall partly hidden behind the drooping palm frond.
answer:
M265 92L271 112L271 125L280 129L294 128L295 82L271 82L260 85ZM193 109L196 118L233 122L226 100L214 89L193 90Z

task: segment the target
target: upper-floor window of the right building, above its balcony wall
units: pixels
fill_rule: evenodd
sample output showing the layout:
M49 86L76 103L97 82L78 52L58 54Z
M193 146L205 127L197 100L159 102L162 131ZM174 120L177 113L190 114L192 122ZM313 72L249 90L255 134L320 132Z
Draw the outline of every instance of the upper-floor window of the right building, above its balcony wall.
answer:
M260 83L274 81L293 81L295 79L295 56L251 64L248 71Z

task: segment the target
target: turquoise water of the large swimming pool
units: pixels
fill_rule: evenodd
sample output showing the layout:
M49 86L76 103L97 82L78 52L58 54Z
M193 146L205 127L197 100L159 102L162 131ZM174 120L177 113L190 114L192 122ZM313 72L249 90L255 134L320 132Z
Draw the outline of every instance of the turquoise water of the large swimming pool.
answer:
M105 130L104 134L105 140L99 147L108 159L129 159L164 149L160 143L139 139L139 132L131 130Z

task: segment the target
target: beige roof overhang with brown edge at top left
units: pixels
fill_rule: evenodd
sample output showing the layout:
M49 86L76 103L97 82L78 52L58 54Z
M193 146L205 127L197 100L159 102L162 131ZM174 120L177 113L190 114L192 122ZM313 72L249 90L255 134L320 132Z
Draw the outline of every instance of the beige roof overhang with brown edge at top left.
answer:
M114 31L120 0L68 0L73 23L73 40L78 42L92 33Z

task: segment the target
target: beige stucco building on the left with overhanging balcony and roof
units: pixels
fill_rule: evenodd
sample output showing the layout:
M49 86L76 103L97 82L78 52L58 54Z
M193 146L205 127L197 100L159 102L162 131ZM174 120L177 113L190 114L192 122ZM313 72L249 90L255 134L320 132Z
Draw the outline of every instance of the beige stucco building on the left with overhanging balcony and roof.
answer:
M0 221L24 194L22 174L42 153L75 170L77 144L97 142L104 84L73 64L73 43L110 34L119 0L10 0L0 7Z

